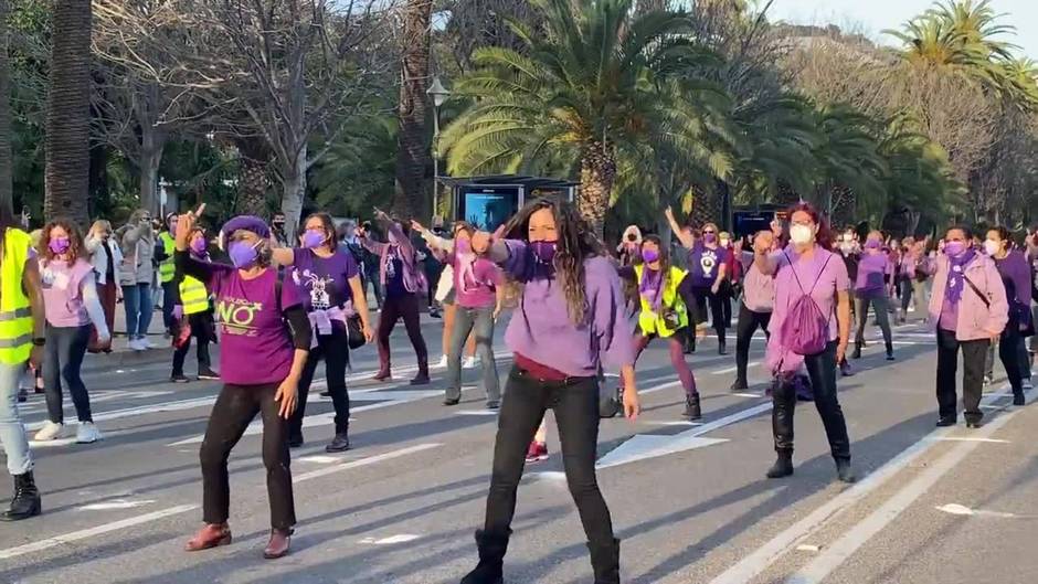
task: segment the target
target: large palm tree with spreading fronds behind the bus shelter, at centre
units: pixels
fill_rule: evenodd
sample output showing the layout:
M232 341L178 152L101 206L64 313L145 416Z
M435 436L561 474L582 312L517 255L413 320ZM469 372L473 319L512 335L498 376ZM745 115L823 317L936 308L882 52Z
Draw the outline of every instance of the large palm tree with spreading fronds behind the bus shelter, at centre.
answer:
M444 134L452 173L516 171L546 160L572 160L579 169L578 206L597 234L624 152L639 145L701 144L710 129L678 108L668 83L688 81L703 51L682 32L675 12L636 14L633 0L534 0L544 32L512 23L526 50L477 50L477 70L455 91L472 106ZM723 170L720 156L713 159Z

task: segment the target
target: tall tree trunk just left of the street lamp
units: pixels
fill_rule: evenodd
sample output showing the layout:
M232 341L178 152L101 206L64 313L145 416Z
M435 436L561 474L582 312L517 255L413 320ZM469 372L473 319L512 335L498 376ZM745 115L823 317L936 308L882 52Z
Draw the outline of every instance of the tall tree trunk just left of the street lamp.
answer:
M400 132L396 150L396 189L392 210L404 217L425 216L431 209L425 189L430 162L426 145L426 86L432 0L407 0L403 11L404 46L400 60Z

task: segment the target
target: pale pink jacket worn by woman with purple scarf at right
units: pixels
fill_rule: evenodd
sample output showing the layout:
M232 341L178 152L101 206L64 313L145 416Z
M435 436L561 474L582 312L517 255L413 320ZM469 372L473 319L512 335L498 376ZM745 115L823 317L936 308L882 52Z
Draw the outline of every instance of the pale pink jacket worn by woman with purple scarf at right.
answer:
M941 254L934 262L936 273L933 276L933 291L930 295L930 322L936 327L944 306L944 289L947 287L949 261ZM977 254L966 264L965 276L987 297L989 306L965 284L962 299L958 301L958 321L955 339L975 341L988 339L1006 328L1009 321L1009 304L1006 300L1006 287L992 258Z

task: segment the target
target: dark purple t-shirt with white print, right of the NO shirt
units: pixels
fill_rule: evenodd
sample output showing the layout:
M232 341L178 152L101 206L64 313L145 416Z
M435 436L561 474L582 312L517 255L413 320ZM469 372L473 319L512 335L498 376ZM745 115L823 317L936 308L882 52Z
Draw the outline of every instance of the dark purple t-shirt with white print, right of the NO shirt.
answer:
M353 301L350 278L360 275L357 261L349 253L336 252L321 257L313 249L293 251L292 282L299 287L307 312L342 307Z

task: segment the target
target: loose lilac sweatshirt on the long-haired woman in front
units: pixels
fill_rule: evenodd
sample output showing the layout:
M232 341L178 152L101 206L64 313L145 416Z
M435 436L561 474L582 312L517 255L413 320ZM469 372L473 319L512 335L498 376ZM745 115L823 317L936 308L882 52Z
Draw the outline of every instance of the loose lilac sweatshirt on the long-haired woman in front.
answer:
M504 244L501 246L500 244ZM494 258L515 277L528 273L532 254L523 241L495 245ZM624 315L624 294L616 268L606 257L584 261L587 309L573 325L560 283L532 279L522 286L519 307L505 331L509 350L568 375L597 375L601 360L610 368L634 364L634 328Z

